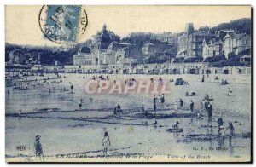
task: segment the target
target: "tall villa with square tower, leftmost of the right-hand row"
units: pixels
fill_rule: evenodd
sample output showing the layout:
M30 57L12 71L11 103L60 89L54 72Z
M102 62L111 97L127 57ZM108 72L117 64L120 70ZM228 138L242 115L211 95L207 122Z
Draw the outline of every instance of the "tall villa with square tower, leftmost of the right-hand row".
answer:
M177 37L177 57L201 58L202 43L205 38L213 38L210 32L195 31L192 23L187 23L183 35Z

